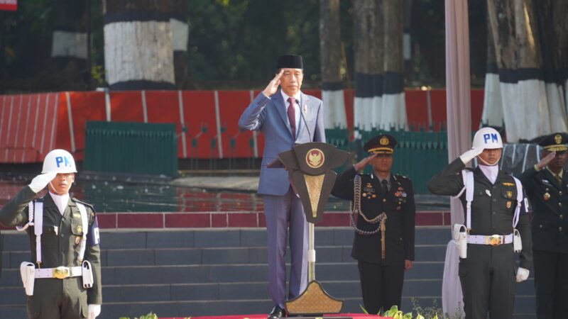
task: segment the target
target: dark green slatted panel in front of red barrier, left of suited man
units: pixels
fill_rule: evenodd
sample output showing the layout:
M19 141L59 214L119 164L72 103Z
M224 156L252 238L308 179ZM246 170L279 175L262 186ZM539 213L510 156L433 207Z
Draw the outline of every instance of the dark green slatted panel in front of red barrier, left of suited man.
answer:
M178 137L175 124L87 122L83 168L178 176Z

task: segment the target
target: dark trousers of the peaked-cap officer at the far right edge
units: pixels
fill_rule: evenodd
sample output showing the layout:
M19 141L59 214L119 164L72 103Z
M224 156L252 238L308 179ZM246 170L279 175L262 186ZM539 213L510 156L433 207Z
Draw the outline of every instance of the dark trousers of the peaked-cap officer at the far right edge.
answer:
M532 251L538 319L568 318L568 254Z

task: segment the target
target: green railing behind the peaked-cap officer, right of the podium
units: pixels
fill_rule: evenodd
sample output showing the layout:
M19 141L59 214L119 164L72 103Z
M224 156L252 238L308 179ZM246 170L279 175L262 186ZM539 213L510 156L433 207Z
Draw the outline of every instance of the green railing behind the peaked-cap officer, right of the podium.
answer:
M448 164L447 132L361 131L358 138L349 142L347 130L328 129L325 131L327 142L354 155L348 164L353 164L366 157L363 145L370 138L381 133L392 135L398 142L395 147L392 172L410 177L413 180L415 193L429 193L426 187L427 182ZM338 169L337 172L342 172L344 167ZM370 167L366 168L366 172L371 172Z

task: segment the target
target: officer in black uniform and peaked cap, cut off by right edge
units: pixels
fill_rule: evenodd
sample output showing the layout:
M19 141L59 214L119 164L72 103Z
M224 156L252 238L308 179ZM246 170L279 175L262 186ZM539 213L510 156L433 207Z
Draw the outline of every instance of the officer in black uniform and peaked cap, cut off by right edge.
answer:
M520 176L532 204L537 318L568 318L568 134L554 133L538 145L542 160Z

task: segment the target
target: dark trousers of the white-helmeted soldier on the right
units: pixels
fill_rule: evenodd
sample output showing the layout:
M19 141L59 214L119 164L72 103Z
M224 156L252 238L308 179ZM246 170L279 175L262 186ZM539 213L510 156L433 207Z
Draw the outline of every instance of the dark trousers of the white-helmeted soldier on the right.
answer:
M515 301L513 244L467 245L467 258L459 259L459 280L467 319L513 318Z

